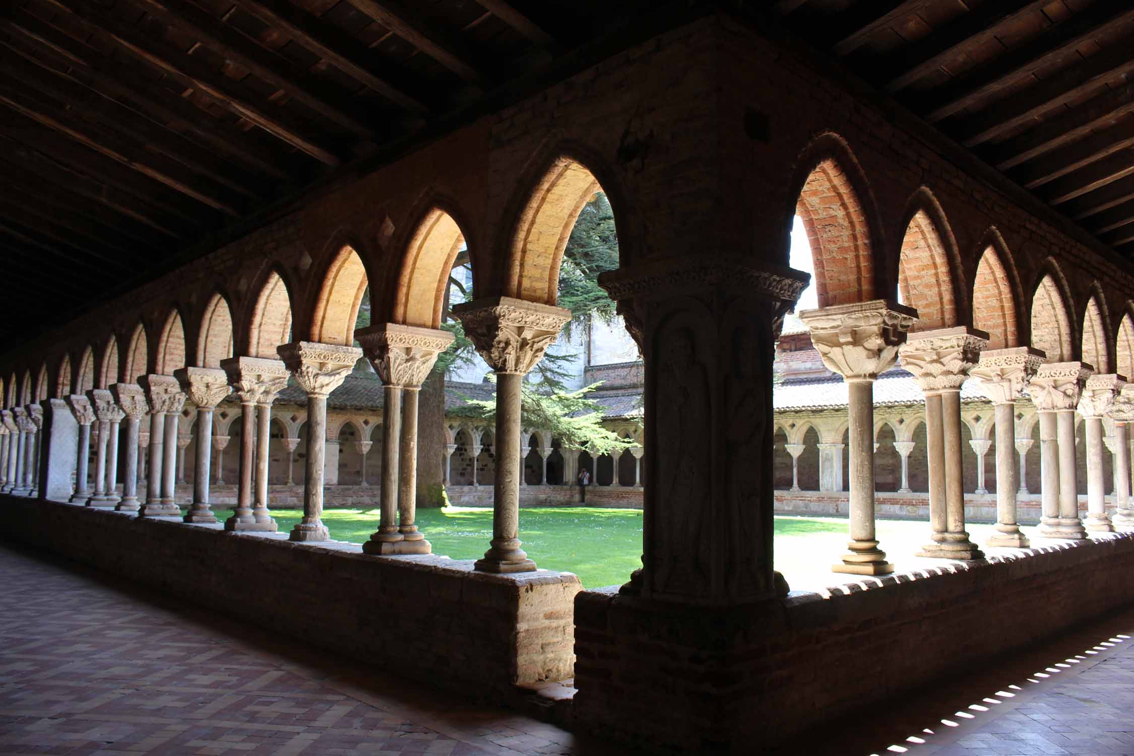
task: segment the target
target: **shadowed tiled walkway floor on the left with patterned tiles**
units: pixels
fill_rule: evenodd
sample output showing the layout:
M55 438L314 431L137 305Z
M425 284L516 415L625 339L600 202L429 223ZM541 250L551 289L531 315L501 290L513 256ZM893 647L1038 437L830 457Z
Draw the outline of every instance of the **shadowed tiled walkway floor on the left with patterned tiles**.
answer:
M94 753L626 751L0 542L0 754Z

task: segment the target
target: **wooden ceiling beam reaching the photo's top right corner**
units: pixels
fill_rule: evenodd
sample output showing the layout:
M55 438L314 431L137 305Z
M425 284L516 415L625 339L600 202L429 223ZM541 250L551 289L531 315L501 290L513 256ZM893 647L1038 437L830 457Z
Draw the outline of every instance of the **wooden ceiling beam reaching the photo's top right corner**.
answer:
M1029 42L1007 51L999 60L978 67L972 75L926 92L916 103L912 103L914 110L924 113L925 120L936 124L1033 77L1033 73L1042 66L1074 53L1077 46L1110 28L1134 20L1134 8L1126 7L1118 12L1114 8L1112 3L1100 3L1068 22L1051 26Z

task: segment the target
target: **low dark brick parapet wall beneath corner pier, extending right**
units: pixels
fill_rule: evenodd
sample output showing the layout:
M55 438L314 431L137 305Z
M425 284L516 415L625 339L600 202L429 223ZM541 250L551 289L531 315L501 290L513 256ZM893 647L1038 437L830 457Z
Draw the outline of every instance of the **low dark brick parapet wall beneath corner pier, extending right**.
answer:
M1134 534L1007 554L730 609L582 592L575 722L654 746L761 753L1134 602Z

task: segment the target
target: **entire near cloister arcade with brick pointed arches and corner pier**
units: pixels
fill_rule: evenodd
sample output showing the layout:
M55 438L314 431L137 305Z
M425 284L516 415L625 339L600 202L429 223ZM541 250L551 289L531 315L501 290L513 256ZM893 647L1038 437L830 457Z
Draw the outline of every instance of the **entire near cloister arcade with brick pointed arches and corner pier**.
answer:
M1023 600L998 601L997 592L1017 596L1026 592L1010 581L1034 578L1032 591L1050 588L1052 604L1072 605L1068 596L1085 591L1068 577L1073 568L1106 576L1091 592L1126 585L1134 546L1129 536L1111 534L1134 527L1134 385L1126 379L1134 379L1134 277L951 147L891 122L839 86L816 83L810 66L725 17L702 19L325 187L82 322L9 350L0 359L2 492L11 496L3 506L24 498L25 520L41 516L35 511L52 521L83 513L58 537L77 538L71 534L90 521L100 534L126 528L124 538L149 544L193 540L193 549L167 554L163 570L223 550L226 569L239 564L251 574L249 564L264 564L263 575L287 575L305 596L321 594L303 612L281 606L290 603L282 594L242 596L245 609L218 598L228 611L262 612L257 621L312 637L319 634L303 623L321 608L333 613L331 602L381 606L381 621L366 615L357 622L364 632L340 628L327 643L407 674L447 674L450 683L482 690L573 677L583 727L693 747L712 737L772 739L768 722L797 731L820 712L881 696L886 686L863 683L863 670L885 666L892 649L862 644L847 629L862 617L855 612L891 612L863 620L883 635L905 627L906 601L940 601L968 618L926 619L919 626L926 648L979 635L973 618L995 614L1000 631L966 647L973 657L1007 647L1006 636L1022 643L1059 627L1056 618L1031 618L1024 630L1023 619L1009 614L1024 613L1013 603ZM645 87L641 97L621 96L629 79ZM748 83L743 96L739 80ZM728 96L708 97L706 87ZM771 107L761 104L765 95L777 109L770 129L759 126L769 118L761 110ZM787 114L792 128L784 126ZM644 360L645 433L634 467L643 486L643 554L642 569L619 591L581 592L575 576L538 570L540 554L523 549L525 467L558 453L570 481L579 460L522 426L521 387L568 320L556 301L558 269L576 216L600 188L621 250L619 270L600 283ZM823 365L844 379L848 409L845 417L785 427L773 411L772 363L784 317L809 283L786 265L796 214L819 295L819 307L798 316ZM496 424L447 427L451 455L437 461L459 485L481 475L467 468L491 445L493 537L475 564L431 555L415 525L418 391L452 340L441 329L443 294L463 245L476 299L452 313L496 372ZM373 325L355 330L367 288ZM366 472L381 491L381 521L362 554L347 558L328 547L333 542L321 519L327 441L352 438L342 435L346 423L329 419L328 400L361 357L383 387L381 418L367 418L373 465ZM898 367L921 389L920 416L899 417L885 402L875 409L894 380L887 373ZM305 398L294 419L273 413L289 381ZM984 409L967 408L973 392L985 397ZM230 393L238 413L226 409ZM187 407L194 482L183 511L175 493ZM361 424L350 423L350 443L367 442ZM973 543L965 529L963 447L972 448L963 443L965 427L967 440L996 449L984 462L985 489L993 473L998 483L998 535L988 544ZM296 478L304 516L288 543L269 537L277 529L269 483L280 472L269 464L273 433L284 445L305 443ZM900 453L898 444L916 445L921 434L929 513L922 555L971 564L932 579L878 578L871 585L879 593L863 592L892 597L896 609L838 602L820 609L818 594L789 595L772 553L782 464L777 436L786 451L803 447L801 459L814 447L818 487L828 477L835 487L845 475L837 485L845 482L849 492L848 550L816 558L838 561L837 571L886 576L894 566L875 538L874 445L877 453ZM1022 452L1017 440L1035 438ZM225 459L213 451L226 443L238 451L222 473L237 483L237 500L221 529L211 485L221 475L213 466ZM1085 521L1076 445L1085 459ZM1004 484L1019 479L1022 453L1041 515L1026 533L1017 487ZM1038 473L1029 455L1038 455ZM626 460L612 462L624 483ZM85 492L88 478L93 490ZM120 495L111 491L118 481ZM51 503L68 500L86 507ZM109 546L84 546L96 547ZM1073 558L1070 567L1059 561ZM294 563L312 567L288 571ZM323 579L332 572L349 575L344 584L356 587L372 580L358 589L381 595L337 593ZM980 591L967 583L972 575L984 576ZM304 579L318 580L320 591L305 591ZM963 583L965 591L950 587ZM1117 600L1092 601L1101 611ZM993 606L974 611L982 602ZM490 605L491 620L484 619ZM502 621L499 606L508 608L510 632L491 625ZM479 655L468 669L452 671L435 642L460 618L472 618L468 635L484 646L469 652ZM929 679L943 664L908 660L897 674ZM714 687L723 668L734 682ZM778 674L782 686L767 682ZM820 674L816 693L811 682ZM680 722L658 734L648 711Z

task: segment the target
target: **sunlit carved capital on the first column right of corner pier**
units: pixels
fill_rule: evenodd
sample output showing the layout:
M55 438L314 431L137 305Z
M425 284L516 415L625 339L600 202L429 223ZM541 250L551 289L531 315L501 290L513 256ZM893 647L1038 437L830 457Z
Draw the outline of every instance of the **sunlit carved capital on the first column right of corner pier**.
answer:
M828 369L848 381L873 381L894 366L917 311L874 299L805 309L799 320Z

